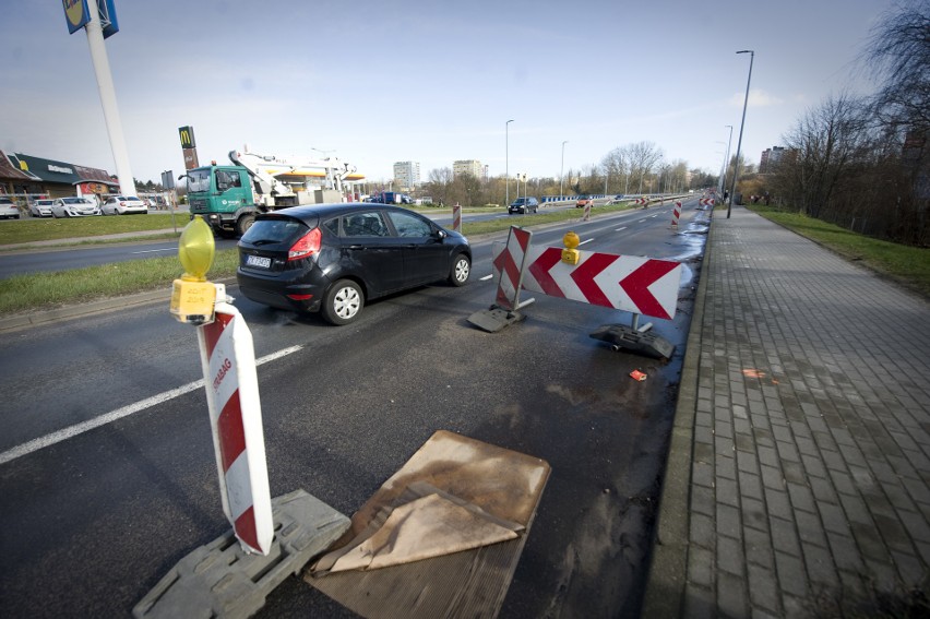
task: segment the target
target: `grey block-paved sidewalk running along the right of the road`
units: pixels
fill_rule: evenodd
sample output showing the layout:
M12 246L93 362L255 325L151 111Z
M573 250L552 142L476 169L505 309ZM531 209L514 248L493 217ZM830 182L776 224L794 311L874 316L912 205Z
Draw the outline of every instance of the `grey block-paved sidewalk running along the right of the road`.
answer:
M928 612L930 305L718 211L659 509L644 617Z

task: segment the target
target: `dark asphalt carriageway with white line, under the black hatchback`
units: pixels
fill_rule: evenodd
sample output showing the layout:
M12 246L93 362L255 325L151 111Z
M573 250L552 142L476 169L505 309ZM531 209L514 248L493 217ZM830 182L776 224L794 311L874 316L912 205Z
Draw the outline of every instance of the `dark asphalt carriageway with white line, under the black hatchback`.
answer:
M493 299L491 239L469 285L372 302L345 328L237 299L257 357L282 355L259 367L272 496L303 488L351 514L438 429L541 457L552 474L502 616L635 612L705 238L694 206L677 234L668 206L534 231L682 260L679 311L653 321L678 346L668 362L588 337L629 313L546 296L500 333L470 326ZM0 376L5 614L124 616L228 528L194 329L167 302L7 334ZM297 579L260 612L308 615L351 614Z

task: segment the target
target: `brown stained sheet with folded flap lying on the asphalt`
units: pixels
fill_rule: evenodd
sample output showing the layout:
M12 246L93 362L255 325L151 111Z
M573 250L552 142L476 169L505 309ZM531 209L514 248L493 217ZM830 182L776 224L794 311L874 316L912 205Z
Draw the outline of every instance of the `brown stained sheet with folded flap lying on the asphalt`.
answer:
M365 617L496 616L549 465L436 432L305 580Z

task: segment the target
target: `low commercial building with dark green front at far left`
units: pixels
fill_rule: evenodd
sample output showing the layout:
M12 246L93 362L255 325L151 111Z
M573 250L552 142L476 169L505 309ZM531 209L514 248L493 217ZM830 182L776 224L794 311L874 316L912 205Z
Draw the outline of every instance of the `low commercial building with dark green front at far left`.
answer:
M23 153L0 151L0 194L26 200L36 197L96 195L119 191L119 181L106 170Z

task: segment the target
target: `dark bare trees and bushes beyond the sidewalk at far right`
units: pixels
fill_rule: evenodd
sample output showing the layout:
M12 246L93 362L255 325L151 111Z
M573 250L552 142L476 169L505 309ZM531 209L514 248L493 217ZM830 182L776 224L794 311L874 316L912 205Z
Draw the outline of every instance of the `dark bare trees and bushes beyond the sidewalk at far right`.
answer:
M771 174L742 175L744 195L896 242L930 245L930 3L897 4L861 55L872 96L840 93L783 136ZM767 171L767 170L766 170Z

